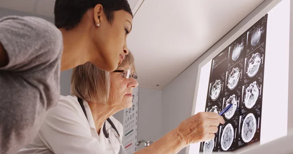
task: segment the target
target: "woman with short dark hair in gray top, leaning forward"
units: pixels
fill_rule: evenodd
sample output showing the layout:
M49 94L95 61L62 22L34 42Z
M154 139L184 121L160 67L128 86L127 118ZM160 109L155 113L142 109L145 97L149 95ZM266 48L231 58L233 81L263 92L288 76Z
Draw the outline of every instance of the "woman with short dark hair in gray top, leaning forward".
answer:
M60 97L60 71L91 62L114 71L128 54L127 0L56 0L55 24L0 19L0 154L15 154L38 133Z

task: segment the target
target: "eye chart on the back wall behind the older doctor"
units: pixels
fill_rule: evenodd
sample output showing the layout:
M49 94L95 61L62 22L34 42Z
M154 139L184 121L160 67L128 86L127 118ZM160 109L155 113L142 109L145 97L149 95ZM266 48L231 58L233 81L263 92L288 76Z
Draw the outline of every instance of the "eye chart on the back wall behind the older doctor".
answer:
M123 114L123 146L127 154L133 154L137 151L135 143L137 142L138 91L139 88L133 88L132 107L124 109Z

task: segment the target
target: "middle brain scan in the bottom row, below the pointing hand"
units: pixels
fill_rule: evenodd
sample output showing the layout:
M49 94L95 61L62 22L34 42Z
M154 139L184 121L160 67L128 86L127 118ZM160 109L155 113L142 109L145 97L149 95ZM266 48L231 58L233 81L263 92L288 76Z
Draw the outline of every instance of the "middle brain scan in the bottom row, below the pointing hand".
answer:
M222 132L221 148L224 151L227 151L232 145L233 139L234 139L234 129L232 125L229 123L225 126L224 131Z

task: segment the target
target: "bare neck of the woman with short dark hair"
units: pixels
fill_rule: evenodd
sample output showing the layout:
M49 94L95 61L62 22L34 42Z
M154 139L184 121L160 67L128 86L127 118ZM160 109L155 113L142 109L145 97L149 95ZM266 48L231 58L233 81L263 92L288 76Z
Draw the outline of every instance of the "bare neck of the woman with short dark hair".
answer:
M82 65L90 60L91 43L82 31L77 29L59 29L63 35L63 54L61 58L61 71Z

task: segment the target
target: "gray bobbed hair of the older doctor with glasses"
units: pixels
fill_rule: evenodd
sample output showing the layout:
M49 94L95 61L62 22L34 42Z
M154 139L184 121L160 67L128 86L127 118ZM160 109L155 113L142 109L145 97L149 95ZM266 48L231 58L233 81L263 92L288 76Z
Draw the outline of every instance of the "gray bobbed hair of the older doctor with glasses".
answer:
M134 58L129 52L118 69L127 65L136 71ZM75 67L71 75L70 93L83 100L105 104L110 93L110 73L98 69L91 62Z

